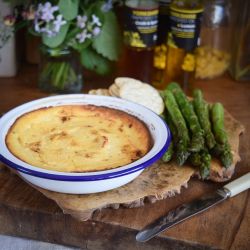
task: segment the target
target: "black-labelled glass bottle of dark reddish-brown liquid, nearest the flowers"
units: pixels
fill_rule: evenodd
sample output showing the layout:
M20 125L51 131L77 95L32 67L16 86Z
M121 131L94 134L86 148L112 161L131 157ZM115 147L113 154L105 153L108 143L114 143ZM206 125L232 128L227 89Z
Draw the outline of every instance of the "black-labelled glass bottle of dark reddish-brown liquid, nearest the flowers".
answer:
M119 74L151 82L158 12L156 0L125 1L122 20L125 46Z

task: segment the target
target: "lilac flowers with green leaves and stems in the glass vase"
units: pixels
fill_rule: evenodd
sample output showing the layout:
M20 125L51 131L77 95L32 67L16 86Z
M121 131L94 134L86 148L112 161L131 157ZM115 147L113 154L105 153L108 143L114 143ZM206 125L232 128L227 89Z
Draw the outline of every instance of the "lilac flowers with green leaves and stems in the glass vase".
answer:
M65 51L74 51L81 64L98 74L110 72L112 61L118 60L121 38L112 1L50 0L22 2L22 21L18 14L6 16L6 26L27 26L30 33L40 36L43 51L59 57ZM50 63L44 67L55 86L63 87L76 79L70 65ZM52 77L53 76L53 77ZM64 81L65 83L63 83Z

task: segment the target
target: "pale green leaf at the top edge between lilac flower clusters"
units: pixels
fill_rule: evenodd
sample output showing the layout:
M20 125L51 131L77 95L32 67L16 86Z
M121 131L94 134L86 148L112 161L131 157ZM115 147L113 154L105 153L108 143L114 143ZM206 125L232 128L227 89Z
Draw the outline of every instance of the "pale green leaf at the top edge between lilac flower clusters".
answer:
M69 21L78 14L79 0L59 0L58 6L60 13Z

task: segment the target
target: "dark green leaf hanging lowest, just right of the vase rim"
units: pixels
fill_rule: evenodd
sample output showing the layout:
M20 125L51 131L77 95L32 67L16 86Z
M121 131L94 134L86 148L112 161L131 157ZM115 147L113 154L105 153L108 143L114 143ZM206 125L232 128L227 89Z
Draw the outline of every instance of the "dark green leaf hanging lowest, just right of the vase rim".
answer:
M95 71L100 75L108 74L112 70L111 62L90 47L82 50L81 63L86 69Z

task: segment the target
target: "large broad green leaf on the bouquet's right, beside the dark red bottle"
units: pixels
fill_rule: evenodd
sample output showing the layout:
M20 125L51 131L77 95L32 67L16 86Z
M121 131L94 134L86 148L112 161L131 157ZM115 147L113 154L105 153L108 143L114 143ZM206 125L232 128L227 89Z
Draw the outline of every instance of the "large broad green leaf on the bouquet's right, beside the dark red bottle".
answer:
M93 41L93 48L111 61L117 61L121 50L121 34L113 12L104 14L102 31Z

